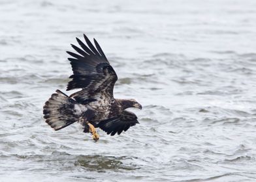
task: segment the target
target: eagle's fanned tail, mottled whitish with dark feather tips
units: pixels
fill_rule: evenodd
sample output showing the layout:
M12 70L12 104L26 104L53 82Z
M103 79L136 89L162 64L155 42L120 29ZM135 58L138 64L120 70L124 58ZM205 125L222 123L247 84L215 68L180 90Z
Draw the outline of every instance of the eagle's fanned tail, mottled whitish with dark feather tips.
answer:
M78 120L74 115L73 109L76 101L68 98L66 94L60 90L52 94L52 97L44 104L44 119L54 130L59 130Z

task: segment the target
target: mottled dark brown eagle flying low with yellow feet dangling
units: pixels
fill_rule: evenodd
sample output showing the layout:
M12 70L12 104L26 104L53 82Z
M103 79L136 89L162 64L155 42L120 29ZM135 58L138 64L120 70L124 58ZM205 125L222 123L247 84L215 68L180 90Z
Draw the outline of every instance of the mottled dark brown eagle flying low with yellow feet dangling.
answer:
M68 96L56 90L43 107L44 119L55 131L72 123L82 124L84 133L91 133L93 140L99 140L95 128L99 127L108 135L120 135L138 123L137 116L127 108L142 109L135 99L115 99L114 85L118 80L116 72L106 59L98 42L93 45L84 34L80 45L71 44L76 53L67 51L73 74L69 77L67 91L80 89Z

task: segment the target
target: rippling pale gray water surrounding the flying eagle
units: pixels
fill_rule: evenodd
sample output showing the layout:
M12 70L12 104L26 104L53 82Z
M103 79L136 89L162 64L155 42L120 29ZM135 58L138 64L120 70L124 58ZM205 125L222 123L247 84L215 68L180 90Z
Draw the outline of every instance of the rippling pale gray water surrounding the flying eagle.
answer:
M83 33L144 106L96 143L42 118ZM256 1L1 0L0 47L0 181L256 181Z

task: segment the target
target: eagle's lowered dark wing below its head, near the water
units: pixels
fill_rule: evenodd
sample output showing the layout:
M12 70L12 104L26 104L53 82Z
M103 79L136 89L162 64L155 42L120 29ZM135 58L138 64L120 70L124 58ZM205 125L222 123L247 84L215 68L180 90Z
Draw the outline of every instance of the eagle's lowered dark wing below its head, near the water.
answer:
M122 131L127 131L129 127L138 123L137 116L133 112L123 110L120 115L114 116L98 123L98 127L106 131L107 134L120 135Z

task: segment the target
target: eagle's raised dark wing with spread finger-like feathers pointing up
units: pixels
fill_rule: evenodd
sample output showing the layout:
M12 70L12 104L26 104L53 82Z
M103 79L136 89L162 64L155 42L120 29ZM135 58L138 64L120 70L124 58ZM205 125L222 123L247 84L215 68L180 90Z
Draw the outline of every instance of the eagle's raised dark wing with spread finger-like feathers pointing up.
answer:
M79 55L67 51L73 57L69 58L73 75L70 76L72 81L67 85L67 90L82 88L70 97L76 99L79 103L93 101L103 94L104 97L113 98L114 84L118 80L118 76L110 66L97 41L93 39L94 47L85 34L84 39L88 46L76 38L82 49L71 44Z

